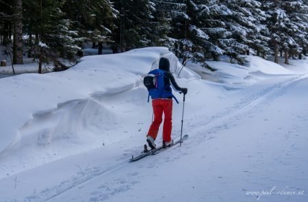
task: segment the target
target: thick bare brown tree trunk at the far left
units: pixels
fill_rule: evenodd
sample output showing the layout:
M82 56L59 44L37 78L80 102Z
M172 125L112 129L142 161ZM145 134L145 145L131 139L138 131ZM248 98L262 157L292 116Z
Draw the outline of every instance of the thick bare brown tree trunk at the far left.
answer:
M14 0L13 63L23 64L23 1Z

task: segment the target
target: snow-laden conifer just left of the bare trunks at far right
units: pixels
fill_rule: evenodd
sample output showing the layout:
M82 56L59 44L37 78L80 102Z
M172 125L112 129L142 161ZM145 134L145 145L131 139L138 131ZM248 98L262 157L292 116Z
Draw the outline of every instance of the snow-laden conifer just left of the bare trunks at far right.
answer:
M216 16L224 29L230 32L226 39L219 40L225 54L239 63L244 63L240 54L253 51L256 55L265 56L269 51L267 41L268 29L262 25L266 14L261 10L261 3L255 0L220 0L222 14ZM215 12L215 10L214 10Z

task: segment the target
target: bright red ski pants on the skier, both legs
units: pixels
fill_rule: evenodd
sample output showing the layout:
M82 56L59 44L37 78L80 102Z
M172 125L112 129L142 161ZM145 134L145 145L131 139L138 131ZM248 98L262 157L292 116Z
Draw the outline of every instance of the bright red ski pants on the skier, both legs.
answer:
M153 99L154 121L149 129L148 136L157 137L159 125L162 123L162 114L164 112L163 141L171 142L172 130L172 99Z

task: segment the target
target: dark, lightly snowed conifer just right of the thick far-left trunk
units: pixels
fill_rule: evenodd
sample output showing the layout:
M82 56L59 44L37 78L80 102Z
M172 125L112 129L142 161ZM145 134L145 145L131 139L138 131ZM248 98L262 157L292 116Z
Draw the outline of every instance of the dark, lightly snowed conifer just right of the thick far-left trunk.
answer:
M75 62L74 55L81 38L72 30L72 22L61 10L64 1L41 3L31 0L24 1L24 5L28 16L26 24L31 25L31 33L36 36L31 40L31 47L34 58L38 59L38 73L42 73L42 63L53 64L55 71L66 69L66 61Z

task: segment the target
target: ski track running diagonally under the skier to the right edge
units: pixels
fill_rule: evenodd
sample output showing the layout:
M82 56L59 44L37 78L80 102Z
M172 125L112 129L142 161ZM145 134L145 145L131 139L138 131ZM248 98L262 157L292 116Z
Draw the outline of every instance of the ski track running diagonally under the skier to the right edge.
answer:
M209 118L205 116L203 117L203 120L194 124L185 123L185 131L190 131L189 141L185 142L186 150L183 151L182 149L175 148L175 150L179 151L179 153L170 157L170 159L166 161L170 162L172 160L177 160L182 155L185 155L188 152L187 150L193 147L192 142L200 143L216 138L216 135L220 129L228 129L229 127L232 127L232 120L239 120L240 118L243 118L243 116L248 114L248 111L252 108L256 108L257 105L260 105L261 103L269 102L270 99L275 99L281 96L285 90L292 88L292 86L295 86L304 79L307 79L306 75L287 77L283 81L279 81L278 84L265 88L258 94L253 94L251 97L236 103L223 114L218 114ZM86 170L77 173L74 178L62 181L62 183L58 186L46 188L41 192L32 194L31 196L25 198L25 201L57 201L58 197L61 197L68 192L78 192L79 189L82 190L85 186L89 186L91 181L101 181L102 185L88 193L89 201L105 201L110 199L110 197L115 194L126 192L135 184L138 184L142 179L142 176L138 173L138 168L143 167L142 164L138 162L128 162L129 152L136 153L136 151L138 151L137 148L128 149L126 155L123 155L123 157L119 157L118 160L116 160L116 162L120 163L110 165L108 168L103 166L87 168ZM146 162L146 160L143 161ZM149 161L145 164L148 163ZM157 166L155 163L148 164L149 168L153 168L155 166ZM122 171L123 168L129 171L129 173L125 176L119 172ZM136 171L131 172L130 170L133 169ZM117 172L120 173L120 176L116 175ZM116 179L113 177L108 177L110 174L118 177L116 177ZM78 201L77 198L70 199L70 201L75 200Z

